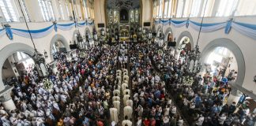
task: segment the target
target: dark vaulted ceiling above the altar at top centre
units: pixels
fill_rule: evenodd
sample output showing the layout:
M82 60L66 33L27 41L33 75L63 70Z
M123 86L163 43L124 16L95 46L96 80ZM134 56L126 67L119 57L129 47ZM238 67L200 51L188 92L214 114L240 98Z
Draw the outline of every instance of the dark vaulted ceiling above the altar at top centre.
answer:
M107 0L107 9L135 9L140 7L140 0Z

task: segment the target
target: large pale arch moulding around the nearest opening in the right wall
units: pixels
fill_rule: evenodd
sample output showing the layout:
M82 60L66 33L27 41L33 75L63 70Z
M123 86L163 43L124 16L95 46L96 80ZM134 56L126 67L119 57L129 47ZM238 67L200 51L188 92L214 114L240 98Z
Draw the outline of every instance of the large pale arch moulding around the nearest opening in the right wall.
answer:
M226 39L226 38L214 39L207 46L205 46L204 50L201 52L202 54L202 57L200 60L201 65L203 65L207 61L209 54L211 54L213 50L216 49L216 47L218 46L227 48L234 55L234 58L237 62L237 72L238 72L235 80L235 84L242 86L244 76L245 76L245 69L246 69L245 61L243 58L242 51L239 49L239 46L237 46L231 39Z

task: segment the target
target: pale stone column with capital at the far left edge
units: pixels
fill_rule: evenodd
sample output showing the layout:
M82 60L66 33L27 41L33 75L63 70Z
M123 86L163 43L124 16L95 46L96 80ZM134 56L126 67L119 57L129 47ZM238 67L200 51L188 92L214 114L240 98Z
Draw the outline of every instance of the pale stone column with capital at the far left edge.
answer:
M2 106L6 110L16 109L16 106L13 102L12 97L11 97L12 89L13 89L13 87L6 86L5 89L0 92L0 101L2 102Z

